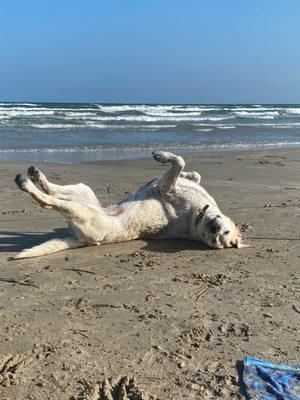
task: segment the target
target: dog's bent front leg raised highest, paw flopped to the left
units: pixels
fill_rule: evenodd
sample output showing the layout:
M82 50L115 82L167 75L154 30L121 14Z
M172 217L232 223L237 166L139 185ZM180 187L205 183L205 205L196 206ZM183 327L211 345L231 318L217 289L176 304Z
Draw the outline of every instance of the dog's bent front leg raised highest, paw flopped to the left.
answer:
M176 187L177 178L180 176L185 165L184 159L166 151L154 151L152 155L154 160L162 164L171 164L171 169L157 182L157 187L161 193L169 193Z

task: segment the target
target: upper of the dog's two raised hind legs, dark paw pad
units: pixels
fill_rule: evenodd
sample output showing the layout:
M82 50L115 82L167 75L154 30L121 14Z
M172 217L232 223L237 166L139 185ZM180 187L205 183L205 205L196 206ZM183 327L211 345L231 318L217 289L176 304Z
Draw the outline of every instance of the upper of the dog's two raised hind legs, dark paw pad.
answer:
M94 207L101 207L93 190L83 183L78 183L77 185L57 185L49 182L45 174L35 167L30 167L28 169L28 176L33 182L38 183L45 193L51 196L61 200L75 201Z

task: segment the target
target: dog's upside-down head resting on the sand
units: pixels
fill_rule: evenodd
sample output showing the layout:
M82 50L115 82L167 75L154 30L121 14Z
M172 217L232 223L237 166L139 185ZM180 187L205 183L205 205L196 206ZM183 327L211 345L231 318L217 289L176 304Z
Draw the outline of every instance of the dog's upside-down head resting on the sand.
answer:
M199 209L195 219L199 240L214 249L249 247L242 243L243 238L240 230L229 217L208 209L208 204Z

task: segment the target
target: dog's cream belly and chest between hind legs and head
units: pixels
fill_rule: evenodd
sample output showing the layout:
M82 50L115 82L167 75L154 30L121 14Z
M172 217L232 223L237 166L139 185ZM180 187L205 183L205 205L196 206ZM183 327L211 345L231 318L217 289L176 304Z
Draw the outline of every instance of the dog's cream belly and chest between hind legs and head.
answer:
M216 206L205 189L194 182L180 178L172 193L161 195L153 181L117 205L122 208L117 218L127 239L189 239L192 213L208 203Z

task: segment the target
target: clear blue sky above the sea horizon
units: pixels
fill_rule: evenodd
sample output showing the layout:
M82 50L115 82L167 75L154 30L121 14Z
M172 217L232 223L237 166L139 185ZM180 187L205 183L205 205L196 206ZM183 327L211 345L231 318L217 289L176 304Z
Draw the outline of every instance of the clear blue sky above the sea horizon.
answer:
M0 99L300 103L300 0L1 0Z

